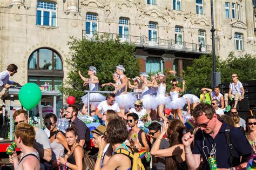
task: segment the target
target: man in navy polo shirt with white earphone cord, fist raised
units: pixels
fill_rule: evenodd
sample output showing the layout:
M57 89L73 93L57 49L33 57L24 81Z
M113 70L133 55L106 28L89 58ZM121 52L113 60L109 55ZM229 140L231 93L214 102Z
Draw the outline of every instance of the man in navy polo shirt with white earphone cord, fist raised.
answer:
M214 108L208 104L199 104L192 115L200 129L196 135L186 133L182 138L189 169L197 169L201 158L203 158L202 169L210 169L208 164L210 157L215 158L218 169L246 168L252 147L240 130L218 120ZM194 142L193 151L190 146L192 142ZM229 146L232 146L232 150Z

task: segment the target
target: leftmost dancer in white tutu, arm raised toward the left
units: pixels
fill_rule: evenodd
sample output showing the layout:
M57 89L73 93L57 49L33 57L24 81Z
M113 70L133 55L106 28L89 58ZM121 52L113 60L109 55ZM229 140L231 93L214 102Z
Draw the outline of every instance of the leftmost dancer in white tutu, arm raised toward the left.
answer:
M97 69L96 67L90 66L88 70L88 75L90 78L85 78L80 71L78 71L78 74L80 78L84 80L84 86L87 84L89 85L90 91L98 91L99 86L99 79L96 77ZM83 101L83 108L82 113L87 114L87 101L88 101L88 94L85 94L82 98ZM105 97L102 94L99 93L90 93L90 100L105 100ZM100 101L90 101L90 110L91 115L95 115L96 106L100 103Z

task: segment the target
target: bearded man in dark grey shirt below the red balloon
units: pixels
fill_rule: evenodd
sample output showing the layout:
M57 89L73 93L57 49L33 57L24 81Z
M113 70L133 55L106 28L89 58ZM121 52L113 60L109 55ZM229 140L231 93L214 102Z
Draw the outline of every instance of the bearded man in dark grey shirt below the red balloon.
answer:
M78 107L75 105L70 105L66 109L66 119L70 120L70 127L73 126L77 129L79 145L85 148L87 126L82 120L78 119L77 114Z

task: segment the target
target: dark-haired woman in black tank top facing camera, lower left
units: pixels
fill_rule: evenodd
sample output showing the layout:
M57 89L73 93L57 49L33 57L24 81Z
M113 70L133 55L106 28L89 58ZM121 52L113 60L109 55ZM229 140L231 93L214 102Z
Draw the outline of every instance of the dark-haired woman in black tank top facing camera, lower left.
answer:
M66 129L66 141L68 142L70 148L70 154L68 159L59 157L58 161L60 164L64 165L67 169L83 169L83 158L84 149L77 142L78 135L77 130L74 127Z

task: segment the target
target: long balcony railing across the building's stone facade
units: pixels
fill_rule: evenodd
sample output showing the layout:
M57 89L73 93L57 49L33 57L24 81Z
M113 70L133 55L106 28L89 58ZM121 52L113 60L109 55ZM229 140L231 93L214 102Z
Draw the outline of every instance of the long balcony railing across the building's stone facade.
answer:
M88 33L88 31L86 31ZM183 52L197 52L197 53L211 53L211 45L202 45L199 50L199 44L187 43L187 42L176 42L174 39L161 39L161 38L148 38L146 36L131 36L131 35L119 35L117 33L109 32L96 32L91 31L90 34L86 34L83 30L83 38L95 40L97 36L107 35L108 38L116 39L119 38L120 42L132 43L139 47L149 47L153 49L165 49L173 51Z

